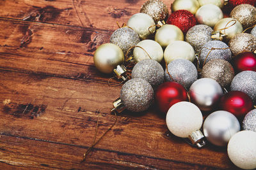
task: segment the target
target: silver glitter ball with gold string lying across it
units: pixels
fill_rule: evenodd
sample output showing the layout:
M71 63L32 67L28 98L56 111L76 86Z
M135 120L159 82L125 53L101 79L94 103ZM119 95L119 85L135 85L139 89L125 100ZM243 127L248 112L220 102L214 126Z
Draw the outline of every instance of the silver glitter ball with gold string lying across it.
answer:
M201 66L211 59L223 59L229 62L232 59L230 48L222 41L214 40L205 43L199 56Z

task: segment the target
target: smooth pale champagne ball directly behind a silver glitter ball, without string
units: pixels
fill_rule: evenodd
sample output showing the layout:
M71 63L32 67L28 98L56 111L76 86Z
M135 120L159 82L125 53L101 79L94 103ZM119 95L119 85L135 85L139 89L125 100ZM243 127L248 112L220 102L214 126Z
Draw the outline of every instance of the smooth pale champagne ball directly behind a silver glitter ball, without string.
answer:
M189 43L185 41L173 41L164 50L164 60L169 64L175 59L195 60L195 51Z

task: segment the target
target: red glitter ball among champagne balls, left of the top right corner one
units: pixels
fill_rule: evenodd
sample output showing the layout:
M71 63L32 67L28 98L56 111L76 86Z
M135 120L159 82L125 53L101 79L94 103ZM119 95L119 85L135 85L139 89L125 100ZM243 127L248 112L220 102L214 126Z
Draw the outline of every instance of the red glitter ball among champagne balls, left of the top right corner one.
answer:
M177 10L169 16L166 23L176 25L186 34L191 27L196 25L196 17L187 10Z

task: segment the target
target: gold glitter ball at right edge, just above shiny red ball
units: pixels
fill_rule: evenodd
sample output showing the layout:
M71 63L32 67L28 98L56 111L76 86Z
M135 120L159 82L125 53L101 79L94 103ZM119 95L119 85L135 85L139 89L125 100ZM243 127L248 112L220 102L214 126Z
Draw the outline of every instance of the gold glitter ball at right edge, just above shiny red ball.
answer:
M238 55L241 52L256 50L256 38L252 34L241 33L230 39L228 46L234 55Z

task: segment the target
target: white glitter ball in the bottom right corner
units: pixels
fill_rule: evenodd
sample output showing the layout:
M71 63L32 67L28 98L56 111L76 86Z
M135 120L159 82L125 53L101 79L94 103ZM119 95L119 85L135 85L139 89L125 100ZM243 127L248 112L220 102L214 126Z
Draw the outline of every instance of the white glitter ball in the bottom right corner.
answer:
M256 132L241 131L228 142L228 157L242 169L256 168Z

